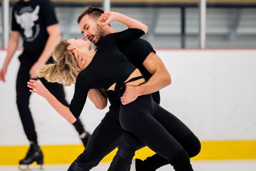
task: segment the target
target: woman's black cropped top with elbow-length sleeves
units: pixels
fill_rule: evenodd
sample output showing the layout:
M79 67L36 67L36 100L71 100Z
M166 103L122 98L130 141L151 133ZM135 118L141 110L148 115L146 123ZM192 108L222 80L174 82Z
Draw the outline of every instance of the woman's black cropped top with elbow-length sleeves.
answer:
M91 63L78 74L76 79L75 92L69 107L76 119L83 110L90 89L108 89L116 83L115 90L118 94L122 84L136 69L118 47L126 46L144 34L141 29L129 28L101 38Z

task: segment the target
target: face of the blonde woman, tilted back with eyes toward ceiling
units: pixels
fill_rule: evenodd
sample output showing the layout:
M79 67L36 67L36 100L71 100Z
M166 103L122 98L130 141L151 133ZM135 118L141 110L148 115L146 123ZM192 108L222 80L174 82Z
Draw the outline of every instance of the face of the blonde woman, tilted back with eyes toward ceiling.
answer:
M91 42L89 40L86 41L84 37L80 39L77 39L77 38L68 39L67 42L70 44L69 47L73 47L78 51L82 51L83 49L91 50L91 45L92 45Z

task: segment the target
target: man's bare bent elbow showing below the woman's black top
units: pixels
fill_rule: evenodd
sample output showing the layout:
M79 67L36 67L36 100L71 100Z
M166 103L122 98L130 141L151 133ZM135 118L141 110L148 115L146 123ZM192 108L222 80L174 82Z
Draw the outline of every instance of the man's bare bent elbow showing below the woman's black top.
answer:
M104 109L108 104L107 90L90 89L87 96L98 109Z

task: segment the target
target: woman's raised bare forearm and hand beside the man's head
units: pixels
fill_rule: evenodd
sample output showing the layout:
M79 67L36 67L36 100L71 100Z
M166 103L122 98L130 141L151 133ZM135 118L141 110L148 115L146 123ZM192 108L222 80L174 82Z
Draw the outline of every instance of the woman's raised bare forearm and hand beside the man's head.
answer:
M116 12L104 12L104 14L101 14L99 18L99 22L102 26L111 23L112 21L118 21L120 23L125 24L128 28L137 28L143 30L145 33L147 33L148 27L139 22L138 20L135 20L133 18L127 17L123 14L116 13Z

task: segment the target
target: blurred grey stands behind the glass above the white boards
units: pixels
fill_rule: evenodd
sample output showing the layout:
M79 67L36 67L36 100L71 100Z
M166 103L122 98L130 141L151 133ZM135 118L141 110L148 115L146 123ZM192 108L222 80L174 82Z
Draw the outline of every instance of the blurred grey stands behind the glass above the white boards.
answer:
M10 17L15 2L10 0ZM102 0L52 2L56 5L61 34L67 38L82 36L76 21L87 5L104 8ZM199 4L198 0L111 0L111 8L108 3L105 8L148 25L148 33L143 38L154 48L194 49L199 48ZM256 0L207 0L206 6L206 20L202 23L206 26L205 48L256 48ZM126 28L118 22L113 22L112 27L116 31ZM2 36L0 22L1 40Z

